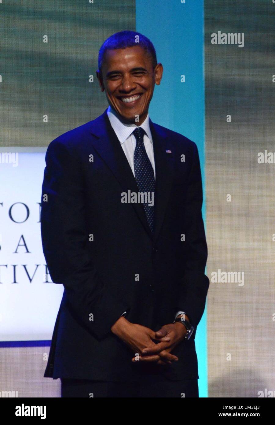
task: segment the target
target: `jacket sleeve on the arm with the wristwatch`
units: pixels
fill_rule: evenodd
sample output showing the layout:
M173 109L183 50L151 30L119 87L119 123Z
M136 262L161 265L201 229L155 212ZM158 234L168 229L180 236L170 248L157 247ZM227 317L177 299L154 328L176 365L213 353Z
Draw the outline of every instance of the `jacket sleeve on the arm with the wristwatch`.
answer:
M201 214L202 182L198 148L193 143L193 161L190 169L184 216L184 272L180 281L178 309L186 312L196 329L204 312L209 279L204 274L207 244Z

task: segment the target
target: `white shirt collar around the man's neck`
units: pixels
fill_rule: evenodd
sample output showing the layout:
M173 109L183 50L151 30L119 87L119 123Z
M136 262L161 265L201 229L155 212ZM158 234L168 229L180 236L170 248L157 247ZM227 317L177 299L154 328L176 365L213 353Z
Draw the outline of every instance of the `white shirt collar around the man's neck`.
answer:
M128 139L128 137L130 136L131 133L133 133L133 130L136 127L139 127L136 124L124 124L124 122L121 122L120 119L118 118L119 115L116 113L116 111L113 110L113 108L111 108L110 105L107 109L107 115L111 123L111 126L113 127L113 130L116 133L116 136L119 139L119 142L121 144L124 143L126 139ZM153 138L150 131L150 122L149 122L148 113L144 122L140 125L140 127L143 128L148 138L150 139L150 142L153 144Z

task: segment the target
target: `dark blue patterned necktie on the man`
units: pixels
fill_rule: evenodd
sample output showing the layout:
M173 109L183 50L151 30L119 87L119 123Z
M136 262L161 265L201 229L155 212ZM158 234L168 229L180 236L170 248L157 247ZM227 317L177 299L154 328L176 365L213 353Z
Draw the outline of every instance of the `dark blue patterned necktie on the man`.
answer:
M139 192L150 192L150 200L153 203L153 206L150 204L144 203L143 207L145 210L145 215L150 227L151 232L154 231L154 210L155 210L155 196L152 198L152 193L155 195L155 176L152 164L145 150L143 143L143 136L145 135L145 130L142 127L137 127L133 131L133 135L136 138L136 148L134 151L134 170L136 183L139 188ZM154 202L153 202L154 201Z

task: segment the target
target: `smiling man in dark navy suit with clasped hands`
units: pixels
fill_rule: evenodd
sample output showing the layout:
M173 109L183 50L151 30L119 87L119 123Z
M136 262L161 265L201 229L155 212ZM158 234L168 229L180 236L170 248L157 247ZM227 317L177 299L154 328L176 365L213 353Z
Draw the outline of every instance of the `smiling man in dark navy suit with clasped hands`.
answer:
M44 376L62 397L198 397L201 170L196 144L149 118L162 72L147 37L113 34L97 71L109 108L48 146L43 252L64 294Z

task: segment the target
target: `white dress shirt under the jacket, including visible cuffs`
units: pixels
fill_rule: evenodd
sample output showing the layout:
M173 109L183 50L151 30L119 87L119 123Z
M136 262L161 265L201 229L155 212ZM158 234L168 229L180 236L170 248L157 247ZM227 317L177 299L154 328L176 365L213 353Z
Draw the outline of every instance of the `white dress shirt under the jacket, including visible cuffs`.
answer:
M133 135L133 131L136 129L136 127L139 127L139 126L136 124L124 124L124 122L121 122L120 119L118 118L118 114L116 113L116 111L113 110L113 108L111 108L111 106L109 106L109 108L107 109L107 115L111 123L111 126L113 127L113 130L116 133L117 138L119 139L123 152L125 153L125 156L129 162L133 175L135 176L134 151L136 147L136 138ZM140 127L142 127L146 133L144 135L143 142L144 142L145 150L150 160L150 163L152 164L152 167L154 170L154 176L156 179L153 138L150 131L149 114L147 114L145 120L140 125ZM126 312L124 312L122 316L125 316L125 314ZM176 313L175 318L179 314L185 314L185 313L179 311Z

